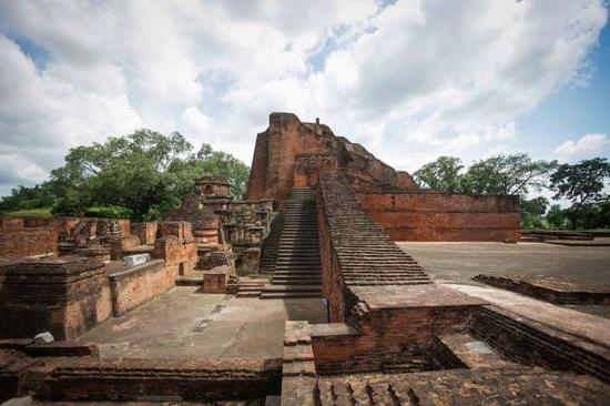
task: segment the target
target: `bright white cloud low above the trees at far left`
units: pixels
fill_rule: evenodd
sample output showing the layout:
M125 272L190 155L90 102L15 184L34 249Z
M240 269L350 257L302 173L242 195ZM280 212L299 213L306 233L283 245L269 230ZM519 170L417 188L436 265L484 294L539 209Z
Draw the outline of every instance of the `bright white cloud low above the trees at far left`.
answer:
M49 71L40 72L4 35L0 35L0 153L6 164L0 187L4 193L17 186L16 181L44 180L70 146L142 124L125 93L90 92Z

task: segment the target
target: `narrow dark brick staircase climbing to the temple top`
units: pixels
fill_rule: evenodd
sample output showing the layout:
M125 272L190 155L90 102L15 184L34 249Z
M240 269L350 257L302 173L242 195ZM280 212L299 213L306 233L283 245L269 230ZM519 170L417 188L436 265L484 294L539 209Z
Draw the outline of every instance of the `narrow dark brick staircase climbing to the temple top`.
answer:
M321 285L316 194L311 189L293 189L284 211L275 272L261 298L319 297Z

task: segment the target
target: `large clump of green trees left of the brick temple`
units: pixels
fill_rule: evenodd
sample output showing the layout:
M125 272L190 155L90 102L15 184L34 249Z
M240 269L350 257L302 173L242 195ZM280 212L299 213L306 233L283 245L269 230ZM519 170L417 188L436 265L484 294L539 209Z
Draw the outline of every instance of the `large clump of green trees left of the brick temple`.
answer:
M246 193L250 169L228 153L202 144L194 151L182 134L139 130L103 143L71 149L50 180L18 186L0 201L0 213L51 207L57 215L156 220L180 204L203 175L222 175L232 194Z

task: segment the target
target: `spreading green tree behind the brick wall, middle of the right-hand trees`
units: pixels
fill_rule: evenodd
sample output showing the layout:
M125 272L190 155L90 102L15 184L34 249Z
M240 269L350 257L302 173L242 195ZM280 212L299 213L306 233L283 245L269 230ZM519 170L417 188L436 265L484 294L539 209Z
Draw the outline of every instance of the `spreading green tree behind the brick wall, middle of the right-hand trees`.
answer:
M526 195L540 191L557 161L533 161L528 154L497 155L468 169L462 179L466 194Z

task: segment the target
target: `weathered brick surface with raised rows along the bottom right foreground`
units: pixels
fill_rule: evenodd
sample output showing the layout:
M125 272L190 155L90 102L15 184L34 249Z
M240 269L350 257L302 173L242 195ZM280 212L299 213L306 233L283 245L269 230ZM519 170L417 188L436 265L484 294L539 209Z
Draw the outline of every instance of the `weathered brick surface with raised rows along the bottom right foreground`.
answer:
M317 405L606 405L610 387L539 369L321 377Z

